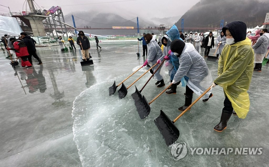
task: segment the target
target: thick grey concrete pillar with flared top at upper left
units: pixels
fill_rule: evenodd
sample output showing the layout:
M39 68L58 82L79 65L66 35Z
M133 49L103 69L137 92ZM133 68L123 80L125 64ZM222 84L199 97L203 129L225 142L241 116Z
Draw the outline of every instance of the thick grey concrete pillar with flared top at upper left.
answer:
M34 36L47 36L45 33L45 28L43 25L43 20L46 19L47 16L38 16L38 15L26 15L25 19L28 19L33 31Z

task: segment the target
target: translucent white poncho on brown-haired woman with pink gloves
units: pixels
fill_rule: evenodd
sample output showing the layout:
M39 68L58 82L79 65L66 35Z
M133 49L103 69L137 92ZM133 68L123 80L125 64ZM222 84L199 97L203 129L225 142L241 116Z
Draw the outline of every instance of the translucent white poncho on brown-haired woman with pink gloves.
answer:
M157 63L157 60L162 57L162 49L158 45L158 43L155 41L156 36L153 35L150 43L147 44L148 47L148 63L152 67L154 64ZM158 66L153 67L153 71L155 71L158 68ZM158 81L161 81L164 78L164 71L165 67L162 65L161 68L154 74L155 79Z

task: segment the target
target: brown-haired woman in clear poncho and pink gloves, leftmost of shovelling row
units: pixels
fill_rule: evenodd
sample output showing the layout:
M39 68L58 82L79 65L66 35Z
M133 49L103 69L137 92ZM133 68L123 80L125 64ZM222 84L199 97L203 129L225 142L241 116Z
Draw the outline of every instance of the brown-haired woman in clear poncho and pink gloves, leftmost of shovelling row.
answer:
M147 66L148 63L152 63L153 65L156 63L160 63L161 61L158 59L162 57L162 50L160 46L158 45L158 43L155 41L156 39L155 36L152 36L151 34L146 34L144 38L147 43L148 58L146 59L142 67ZM155 85L160 83L157 87L165 86L164 79L163 79L164 69L162 67L159 68L158 71L154 74L154 77L157 79L157 82L155 83ZM157 68L158 66L155 66L153 67L152 70L155 71Z

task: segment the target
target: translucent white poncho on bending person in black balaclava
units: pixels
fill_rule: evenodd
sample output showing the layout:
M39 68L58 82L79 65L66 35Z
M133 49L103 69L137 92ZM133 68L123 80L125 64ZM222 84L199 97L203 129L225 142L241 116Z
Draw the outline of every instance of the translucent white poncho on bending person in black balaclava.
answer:
M171 49L177 47L178 43L176 42L171 43ZM187 85L199 96L212 85L212 76L206 61L191 43L185 43L182 54L179 56L179 63L180 66L173 81L179 82L183 76L189 77ZM211 90L201 99L207 99L210 93Z

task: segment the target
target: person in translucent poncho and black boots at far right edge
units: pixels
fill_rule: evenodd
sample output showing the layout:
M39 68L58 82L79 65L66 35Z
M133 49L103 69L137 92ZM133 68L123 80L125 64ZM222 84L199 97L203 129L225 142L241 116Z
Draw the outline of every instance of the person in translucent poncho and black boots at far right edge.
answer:
M264 28L261 30L260 37L257 42L252 46L254 49L254 71L261 71L261 64L263 62L263 58L266 56L268 46L269 34L267 33L267 29Z

